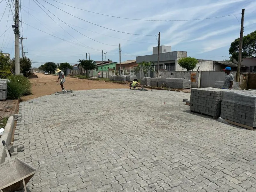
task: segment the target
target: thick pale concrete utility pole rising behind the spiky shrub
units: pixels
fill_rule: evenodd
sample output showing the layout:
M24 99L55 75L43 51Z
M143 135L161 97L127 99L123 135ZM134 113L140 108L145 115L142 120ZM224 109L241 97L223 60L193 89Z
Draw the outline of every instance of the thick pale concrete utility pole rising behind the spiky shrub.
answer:
M19 0L15 0L14 16L14 36L15 36L15 75L20 75L20 25L19 25Z

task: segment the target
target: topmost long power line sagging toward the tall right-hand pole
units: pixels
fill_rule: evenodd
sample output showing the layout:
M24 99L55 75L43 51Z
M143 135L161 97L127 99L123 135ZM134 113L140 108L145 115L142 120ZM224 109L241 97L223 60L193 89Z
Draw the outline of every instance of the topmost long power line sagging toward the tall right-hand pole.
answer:
M77 8L77 7L68 5L68 4L64 4L64 3L61 3L61 2L56 1L56 0L52 0L52 1L58 2L58 3L63 4L63 5L67 5L69 7L73 7L75 9L83 10L83 11L90 12L90 13L95 13L95 14L98 14L98 15L104 15L104 16L108 16L108 17L115 17L115 18L119 18L119 19L140 20L140 21L194 21L194 20L216 19L216 18L228 17L228 16L233 16L234 15L234 14L232 14L232 15L224 15L224 16L218 16L218 17L209 17L209 18L201 18L201 19L188 19L188 20L147 20L147 19L134 19L134 18L117 17L117 16L113 16L113 15L106 15L106 14L102 14L102 13L92 12L92 11L88 11L88 10L85 10L85 9Z

